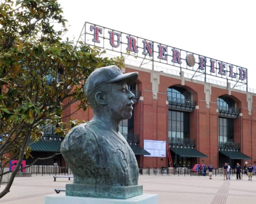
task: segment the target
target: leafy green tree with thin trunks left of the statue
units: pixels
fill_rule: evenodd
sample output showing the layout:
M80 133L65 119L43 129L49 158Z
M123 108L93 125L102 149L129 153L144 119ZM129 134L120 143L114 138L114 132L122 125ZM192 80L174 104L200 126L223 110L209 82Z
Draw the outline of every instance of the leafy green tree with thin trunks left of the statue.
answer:
M97 67L123 66L122 57L104 58L97 48L62 40L65 22L57 0L0 1L0 184L6 165L18 160L0 198L29 157L30 143L41 139L41 127L60 123L71 104L86 109L87 76Z

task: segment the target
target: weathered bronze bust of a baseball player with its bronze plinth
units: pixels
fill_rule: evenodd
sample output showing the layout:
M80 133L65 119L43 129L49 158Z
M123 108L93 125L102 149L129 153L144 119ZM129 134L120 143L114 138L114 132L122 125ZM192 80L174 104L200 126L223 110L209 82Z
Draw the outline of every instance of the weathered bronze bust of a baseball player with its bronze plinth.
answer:
M89 122L75 126L61 143L61 154L74 174L67 196L126 199L142 194L137 160L119 132L130 118L133 93L128 86L138 72L123 74L117 66L95 69L84 92L93 109Z

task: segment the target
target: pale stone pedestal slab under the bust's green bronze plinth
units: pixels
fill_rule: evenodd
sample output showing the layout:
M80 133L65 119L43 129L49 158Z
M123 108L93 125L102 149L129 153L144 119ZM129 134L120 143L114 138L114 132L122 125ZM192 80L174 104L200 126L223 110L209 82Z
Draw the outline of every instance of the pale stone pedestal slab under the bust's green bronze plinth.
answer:
M129 199L110 199L110 198L89 198L66 196L65 193L53 194L44 197L44 204L157 204L157 194L143 193Z

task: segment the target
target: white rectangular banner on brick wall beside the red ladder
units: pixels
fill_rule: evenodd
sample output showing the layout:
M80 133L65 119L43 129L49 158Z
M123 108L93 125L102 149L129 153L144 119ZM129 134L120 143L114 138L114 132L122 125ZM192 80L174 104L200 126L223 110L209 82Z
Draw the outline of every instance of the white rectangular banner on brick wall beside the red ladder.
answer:
M144 140L144 149L150 153L145 157L166 157L166 141Z

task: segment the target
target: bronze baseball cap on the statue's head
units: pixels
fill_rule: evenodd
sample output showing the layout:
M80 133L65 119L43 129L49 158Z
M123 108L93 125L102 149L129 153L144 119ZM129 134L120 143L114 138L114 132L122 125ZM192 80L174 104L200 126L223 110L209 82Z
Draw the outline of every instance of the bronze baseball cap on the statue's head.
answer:
M115 65L104 66L95 69L89 75L84 84L84 93L89 98L95 90L105 84L124 80L130 86L136 82L137 78L138 72L122 73Z

